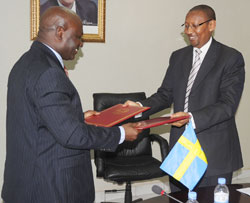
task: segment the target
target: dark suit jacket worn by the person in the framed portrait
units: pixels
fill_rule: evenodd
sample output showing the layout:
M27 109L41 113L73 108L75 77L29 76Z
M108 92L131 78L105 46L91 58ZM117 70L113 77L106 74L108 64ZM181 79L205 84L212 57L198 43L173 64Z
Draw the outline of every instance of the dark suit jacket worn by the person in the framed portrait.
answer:
M75 0L76 13L84 25L97 25L97 5L91 0ZM59 6L57 0L48 0L40 6L40 14L51 7Z

